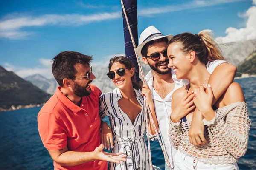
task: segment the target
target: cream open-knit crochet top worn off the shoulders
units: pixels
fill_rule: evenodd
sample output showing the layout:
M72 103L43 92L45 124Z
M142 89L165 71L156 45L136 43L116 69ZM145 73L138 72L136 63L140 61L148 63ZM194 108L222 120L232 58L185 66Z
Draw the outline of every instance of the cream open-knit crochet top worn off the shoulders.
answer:
M205 164L233 164L244 156L251 124L245 102L218 108L211 121L203 122L207 144L195 147L189 142L191 121L170 120L169 139L175 149Z

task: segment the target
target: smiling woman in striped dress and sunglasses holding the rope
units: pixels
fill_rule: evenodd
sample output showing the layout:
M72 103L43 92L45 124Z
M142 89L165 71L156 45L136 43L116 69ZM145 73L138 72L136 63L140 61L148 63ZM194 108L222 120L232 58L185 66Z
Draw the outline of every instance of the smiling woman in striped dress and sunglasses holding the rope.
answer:
M128 58L114 57L110 60L108 69L110 72L107 75L117 88L100 97L100 117L103 119L109 116L114 138L112 153L122 152L127 155L126 162L121 161L120 164L110 162L109 170L148 170L148 148L144 139L146 122L143 95L147 97L154 122L157 122L151 91L145 85L142 91L138 90L134 66ZM155 134L153 129L150 121L151 134Z

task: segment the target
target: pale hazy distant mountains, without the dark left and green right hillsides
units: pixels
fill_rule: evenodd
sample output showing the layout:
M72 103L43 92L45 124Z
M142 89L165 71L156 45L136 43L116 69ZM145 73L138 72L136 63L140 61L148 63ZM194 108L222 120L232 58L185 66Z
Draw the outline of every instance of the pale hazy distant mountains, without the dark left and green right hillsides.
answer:
M229 61L231 64L238 66L245 58L247 58L256 47L256 39L255 40L247 40L241 42L230 42L227 44L219 45L221 48L221 52L223 56ZM147 74L150 70L148 65L145 65L141 62L144 74ZM112 80L107 77L108 66L93 66L93 74L96 76L96 79L93 80L94 85L96 85L102 92L108 92L113 90L115 85ZM32 82L38 88L46 91L49 94L54 94L56 88L58 87L58 83L55 79L46 79L40 74L35 74L25 78L26 80Z

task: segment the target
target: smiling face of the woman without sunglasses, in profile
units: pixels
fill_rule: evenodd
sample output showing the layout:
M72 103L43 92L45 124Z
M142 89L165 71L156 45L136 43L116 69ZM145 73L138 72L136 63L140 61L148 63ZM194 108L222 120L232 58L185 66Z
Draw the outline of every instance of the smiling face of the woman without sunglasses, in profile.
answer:
M167 48L167 56L169 58L168 67L175 72L177 79L186 79L191 69L189 56L181 50L183 45L181 42L174 42Z

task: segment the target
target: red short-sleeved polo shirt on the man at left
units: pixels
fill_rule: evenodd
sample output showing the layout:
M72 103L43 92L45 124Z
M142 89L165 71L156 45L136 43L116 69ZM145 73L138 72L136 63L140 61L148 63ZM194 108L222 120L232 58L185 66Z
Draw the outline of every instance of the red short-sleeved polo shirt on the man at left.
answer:
M38 113L38 131L49 150L91 152L100 145L99 96L101 91L90 85L91 94L82 98L80 107L71 102L58 87ZM106 161L90 161L74 167L62 167L54 161L55 170L106 170Z

